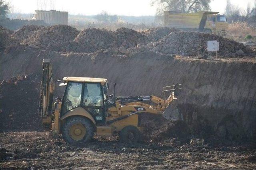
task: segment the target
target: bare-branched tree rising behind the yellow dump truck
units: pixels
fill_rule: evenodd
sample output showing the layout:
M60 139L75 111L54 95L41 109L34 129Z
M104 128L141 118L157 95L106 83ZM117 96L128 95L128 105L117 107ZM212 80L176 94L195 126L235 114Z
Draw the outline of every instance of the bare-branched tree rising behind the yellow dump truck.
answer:
M198 12L210 10L212 0L152 0L151 5L157 5L157 15L164 11Z

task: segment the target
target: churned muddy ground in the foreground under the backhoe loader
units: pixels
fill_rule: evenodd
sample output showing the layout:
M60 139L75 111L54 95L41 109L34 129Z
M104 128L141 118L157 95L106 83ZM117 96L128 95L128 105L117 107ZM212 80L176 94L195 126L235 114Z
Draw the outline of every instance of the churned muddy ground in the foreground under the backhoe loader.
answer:
M47 132L0 133L0 169L255 169L256 148L161 143L124 144L97 137L72 147Z

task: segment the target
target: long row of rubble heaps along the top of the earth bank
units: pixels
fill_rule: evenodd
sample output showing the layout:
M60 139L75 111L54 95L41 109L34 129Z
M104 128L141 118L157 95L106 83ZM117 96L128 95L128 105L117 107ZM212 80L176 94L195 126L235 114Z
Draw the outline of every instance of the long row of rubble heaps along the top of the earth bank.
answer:
M52 51L105 50L106 53L124 55L153 51L196 57L199 49L206 50L207 41L217 40L220 43L218 55L222 57L254 57L256 55L256 52L249 47L231 39L199 32L184 32L168 27L152 28L142 32L124 27L116 31L88 28L79 33L75 28L67 25L50 27L26 25L12 33L11 40L10 31L3 28L2 30L7 34L5 41L2 41L5 44L2 45L4 47L24 40L21 45ZM212 55L214 54L208 53L209 57Z

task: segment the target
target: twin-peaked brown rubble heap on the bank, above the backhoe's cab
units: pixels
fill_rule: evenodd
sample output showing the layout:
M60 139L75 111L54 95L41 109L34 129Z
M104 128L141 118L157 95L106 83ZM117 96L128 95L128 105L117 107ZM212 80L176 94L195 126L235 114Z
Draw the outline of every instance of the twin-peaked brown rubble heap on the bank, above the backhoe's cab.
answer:
M88 28L80 32L74 41L64 42L61 45L51 45L52 51L79 51L93 52L101 49L122 47L135 47L138 43L148 43L148 37L140 32L128 28L120 28L116 31L106 29ZM60 47L60 48L59 48Z

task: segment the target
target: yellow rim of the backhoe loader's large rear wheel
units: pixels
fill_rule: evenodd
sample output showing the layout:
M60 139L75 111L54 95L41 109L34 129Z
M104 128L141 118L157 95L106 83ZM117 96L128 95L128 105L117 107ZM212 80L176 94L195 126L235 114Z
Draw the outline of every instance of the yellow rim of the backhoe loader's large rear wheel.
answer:
M75 141L82 140L86 134L86 128L82 124L72 125L70 127L69 134L70 137Z

